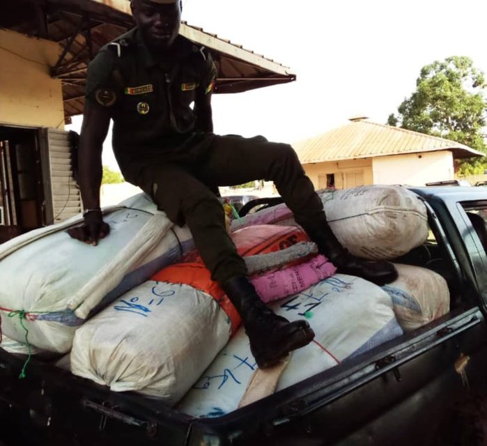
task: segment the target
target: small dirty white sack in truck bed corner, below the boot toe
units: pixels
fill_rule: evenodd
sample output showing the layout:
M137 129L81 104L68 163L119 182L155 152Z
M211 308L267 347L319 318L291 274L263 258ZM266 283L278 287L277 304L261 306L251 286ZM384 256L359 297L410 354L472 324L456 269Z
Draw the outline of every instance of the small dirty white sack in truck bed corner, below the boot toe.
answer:
M382 289L391 296L403 330L415 330L449 312L450 295L443 277L419 266L395 266L399 277Z

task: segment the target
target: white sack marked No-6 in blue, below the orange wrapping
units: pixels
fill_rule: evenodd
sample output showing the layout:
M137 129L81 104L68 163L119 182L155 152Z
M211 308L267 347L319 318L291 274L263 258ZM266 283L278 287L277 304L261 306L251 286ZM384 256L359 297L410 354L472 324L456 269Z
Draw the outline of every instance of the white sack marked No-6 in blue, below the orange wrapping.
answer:
M148 281L75 334L72 373L176 403L230 337L217 302L191 286Z

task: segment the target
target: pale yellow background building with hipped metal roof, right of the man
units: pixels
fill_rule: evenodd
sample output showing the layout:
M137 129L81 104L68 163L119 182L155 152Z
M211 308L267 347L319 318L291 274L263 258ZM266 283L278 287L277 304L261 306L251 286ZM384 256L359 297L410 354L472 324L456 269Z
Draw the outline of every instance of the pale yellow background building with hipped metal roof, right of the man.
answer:
M372 184L424 186L454 179L454 160L484 156L455 141L352 118L293 144L316 189Z

